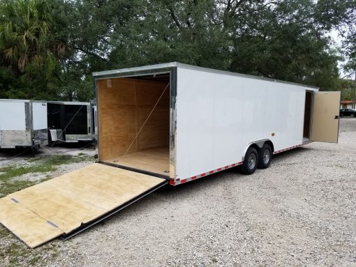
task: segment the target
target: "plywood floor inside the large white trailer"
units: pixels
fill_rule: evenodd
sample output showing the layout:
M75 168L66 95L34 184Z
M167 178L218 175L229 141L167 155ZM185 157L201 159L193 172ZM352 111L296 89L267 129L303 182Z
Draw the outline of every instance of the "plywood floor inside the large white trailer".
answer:
M170 150L168 146L147 148L138 152L127 153L124 157L103 160L103 162L169 176Z

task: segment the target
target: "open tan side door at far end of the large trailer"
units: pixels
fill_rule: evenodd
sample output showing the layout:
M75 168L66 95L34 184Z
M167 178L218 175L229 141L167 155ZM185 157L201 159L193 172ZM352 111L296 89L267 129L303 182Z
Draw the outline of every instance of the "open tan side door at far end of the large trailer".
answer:
M340 92L316 92L313 100L311 141L337 143Z

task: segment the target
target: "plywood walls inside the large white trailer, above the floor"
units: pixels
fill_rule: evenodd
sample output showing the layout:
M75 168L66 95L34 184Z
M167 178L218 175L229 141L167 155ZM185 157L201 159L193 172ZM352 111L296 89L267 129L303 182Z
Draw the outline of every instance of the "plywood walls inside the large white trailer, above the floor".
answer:
M116 78L101 79L98 88L99 156L117 158L127 151L168 82ZM128 153L168 146L170 88L149 116Z

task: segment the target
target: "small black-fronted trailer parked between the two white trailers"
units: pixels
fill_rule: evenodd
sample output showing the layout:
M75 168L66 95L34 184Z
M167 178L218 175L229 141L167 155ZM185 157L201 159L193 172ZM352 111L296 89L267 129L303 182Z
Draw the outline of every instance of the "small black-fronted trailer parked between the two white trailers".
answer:
M48 139L75 143L92 141L92 112L89 102L47 101Z

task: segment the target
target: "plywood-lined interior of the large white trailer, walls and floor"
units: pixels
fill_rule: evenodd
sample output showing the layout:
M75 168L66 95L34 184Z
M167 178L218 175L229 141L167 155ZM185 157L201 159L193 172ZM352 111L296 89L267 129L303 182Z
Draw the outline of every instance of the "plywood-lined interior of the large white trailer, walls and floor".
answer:
M98 79L98 157L169 176L170 75Z

